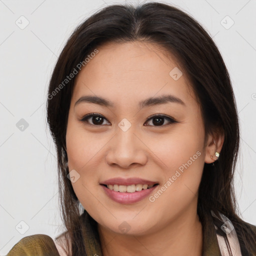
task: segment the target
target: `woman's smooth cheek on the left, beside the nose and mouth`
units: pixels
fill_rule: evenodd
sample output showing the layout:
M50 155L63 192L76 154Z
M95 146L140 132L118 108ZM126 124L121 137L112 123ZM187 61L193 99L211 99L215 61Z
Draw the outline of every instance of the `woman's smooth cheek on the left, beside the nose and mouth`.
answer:
M98 170L95 164L102 160L100 149L104 145L97 135L91 135L75 120L68 120L66 131L66 148L69 172L77 178L71 182L74 192L86 209L90 209L97 200L92 196L98 186ZM71 173L70 173L71 176Z

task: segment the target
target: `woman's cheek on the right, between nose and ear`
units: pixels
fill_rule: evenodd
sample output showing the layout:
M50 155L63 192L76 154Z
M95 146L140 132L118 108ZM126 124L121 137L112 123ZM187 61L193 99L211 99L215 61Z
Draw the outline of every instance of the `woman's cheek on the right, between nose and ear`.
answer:
M168 136L158 140L156 155L163 163L163 179L158 194L152 200L159 207L185 206L197 193L204 165L204 131L200 119L183 123ZM179 208L180 209L180 208ZM173 210L173 209L172 209Z

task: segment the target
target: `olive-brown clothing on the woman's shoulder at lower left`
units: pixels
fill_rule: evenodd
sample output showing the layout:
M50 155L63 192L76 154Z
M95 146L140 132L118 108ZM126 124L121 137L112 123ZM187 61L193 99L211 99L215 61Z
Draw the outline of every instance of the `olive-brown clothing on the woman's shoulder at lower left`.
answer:
M33 234L21 238L6 256L60 256L53 239L46 234Z

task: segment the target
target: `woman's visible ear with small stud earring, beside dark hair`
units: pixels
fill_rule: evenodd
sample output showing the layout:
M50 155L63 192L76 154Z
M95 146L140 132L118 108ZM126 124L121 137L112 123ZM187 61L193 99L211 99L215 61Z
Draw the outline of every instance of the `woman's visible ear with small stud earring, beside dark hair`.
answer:
M218 159L215 152L221 153L221 148L224 142L224 133L219 131L208 134L207 142L205 146L204 162L212 163Z

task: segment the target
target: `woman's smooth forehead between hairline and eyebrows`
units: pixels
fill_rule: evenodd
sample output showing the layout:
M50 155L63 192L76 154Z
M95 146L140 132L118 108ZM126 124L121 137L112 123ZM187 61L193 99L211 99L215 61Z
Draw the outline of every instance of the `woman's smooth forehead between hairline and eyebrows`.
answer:
M191 100L184 70L169 51L158 45L108 42L97 50L78 73L73 97L96 94L140 101L171 93L183 101Z

